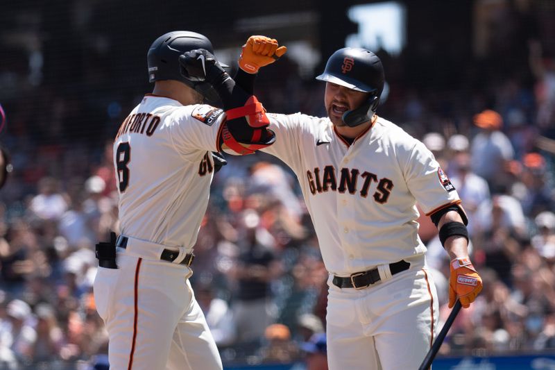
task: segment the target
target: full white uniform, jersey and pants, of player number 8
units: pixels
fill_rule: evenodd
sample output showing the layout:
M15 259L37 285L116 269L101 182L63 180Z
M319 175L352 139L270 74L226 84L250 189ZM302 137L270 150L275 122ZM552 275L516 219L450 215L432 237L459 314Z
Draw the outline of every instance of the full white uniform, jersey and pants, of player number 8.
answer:
M185 255L196 242L223 117L219 108L148 94L119 128L114 167L128 242L118 268L99 267L94 280L110 369L222 369L191 269L160 256L166 248Z

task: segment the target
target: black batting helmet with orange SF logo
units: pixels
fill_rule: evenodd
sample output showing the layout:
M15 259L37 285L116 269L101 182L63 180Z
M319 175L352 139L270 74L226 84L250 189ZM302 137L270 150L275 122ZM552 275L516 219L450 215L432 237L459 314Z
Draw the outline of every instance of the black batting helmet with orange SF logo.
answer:
M343 121L348 126L358 126L372 117L385 83L382 60L372 51L350 47L333 53L327 60L324 73L316 79L370 93L366 103L343 114Z

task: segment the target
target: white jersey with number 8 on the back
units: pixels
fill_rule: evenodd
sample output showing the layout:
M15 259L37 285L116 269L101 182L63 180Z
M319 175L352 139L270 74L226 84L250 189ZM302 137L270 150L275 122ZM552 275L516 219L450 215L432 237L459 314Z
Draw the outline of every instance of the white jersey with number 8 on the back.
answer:
M166 246L196 242L223 110L147 94L114 142L121 233ZM135 148L140 148L137 150Z

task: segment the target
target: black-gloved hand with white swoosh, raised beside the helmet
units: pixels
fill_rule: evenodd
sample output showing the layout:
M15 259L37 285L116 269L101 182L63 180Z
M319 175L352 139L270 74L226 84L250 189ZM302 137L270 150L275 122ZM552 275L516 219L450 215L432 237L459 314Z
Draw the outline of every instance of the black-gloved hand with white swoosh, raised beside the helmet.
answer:
M181 75L192 82L213 82L227 74L214 55L206 49L186 51L179 56Z

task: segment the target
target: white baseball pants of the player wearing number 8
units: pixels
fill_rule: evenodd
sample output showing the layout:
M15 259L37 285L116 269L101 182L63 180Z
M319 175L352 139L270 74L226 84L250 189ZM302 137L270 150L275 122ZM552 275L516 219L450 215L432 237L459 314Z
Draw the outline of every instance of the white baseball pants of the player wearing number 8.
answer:
M99 267L96 310L109 334L111 370L221 370L221 359L182 264L118 252Z

